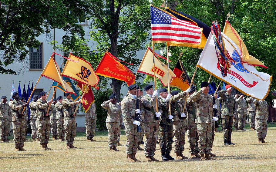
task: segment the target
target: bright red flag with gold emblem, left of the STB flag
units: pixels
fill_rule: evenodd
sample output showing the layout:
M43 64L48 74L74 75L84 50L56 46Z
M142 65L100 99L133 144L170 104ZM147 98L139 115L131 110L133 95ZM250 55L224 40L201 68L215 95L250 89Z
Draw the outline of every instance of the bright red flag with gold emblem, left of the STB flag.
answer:
M121 60L117 59L115 56L106 51L98 67L96 68L95 73L104 77L125 81L128 86L135 84L135 75L132 73L132 71L130 71L129 68L127 68L125 65L122 65L120 61Z

